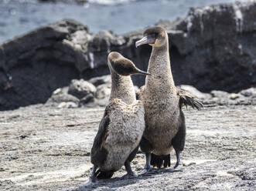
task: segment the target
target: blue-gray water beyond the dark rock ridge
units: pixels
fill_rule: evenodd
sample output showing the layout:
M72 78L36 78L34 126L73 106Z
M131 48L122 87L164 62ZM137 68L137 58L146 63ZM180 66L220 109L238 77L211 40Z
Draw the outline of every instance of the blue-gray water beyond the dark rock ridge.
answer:
M123 34L186 16L190 7L235 0L89 0L86 5L38 3L35 0L0 0L0 43L39 26L73 18L90 32L111 30Z

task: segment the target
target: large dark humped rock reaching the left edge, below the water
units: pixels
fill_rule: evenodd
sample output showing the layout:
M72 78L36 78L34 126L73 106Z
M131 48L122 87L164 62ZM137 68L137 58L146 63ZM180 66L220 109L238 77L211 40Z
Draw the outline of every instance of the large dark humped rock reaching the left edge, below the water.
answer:
M90 68L81 48L89 38L86 26L65 20L0 45L0 110L46 102L77 79Z

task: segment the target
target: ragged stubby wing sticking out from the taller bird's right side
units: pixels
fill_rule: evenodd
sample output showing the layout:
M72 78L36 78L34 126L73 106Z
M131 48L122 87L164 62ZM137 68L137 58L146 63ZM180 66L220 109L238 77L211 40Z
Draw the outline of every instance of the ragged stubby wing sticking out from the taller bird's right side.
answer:
M203 103L199 99L196 99L195 95L190 94L184 89L177 89L177 95L179 95L179 106L191 106L193 109L202 109Z

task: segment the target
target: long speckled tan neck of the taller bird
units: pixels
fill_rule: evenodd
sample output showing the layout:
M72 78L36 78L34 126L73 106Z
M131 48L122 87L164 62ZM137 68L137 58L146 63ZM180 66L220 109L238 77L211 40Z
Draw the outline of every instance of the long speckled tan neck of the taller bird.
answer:
M169 43L161 47L153 47L148 63L148 72L145 80L146 89L158 92L176 93L176 87L172 78L172 70L169 59ZM166 90L166 91L165 91Z

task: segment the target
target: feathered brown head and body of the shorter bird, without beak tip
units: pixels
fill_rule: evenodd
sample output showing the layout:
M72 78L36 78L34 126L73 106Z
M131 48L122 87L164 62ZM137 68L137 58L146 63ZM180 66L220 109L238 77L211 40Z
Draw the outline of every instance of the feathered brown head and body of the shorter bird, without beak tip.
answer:
M111 71L111 96L91 149L91 163L98 170L93 176L111 178L113 173L135 157L145 129L145 110L142 101L135 98L135 89L129 75L139 69L118 52L108 55Z

